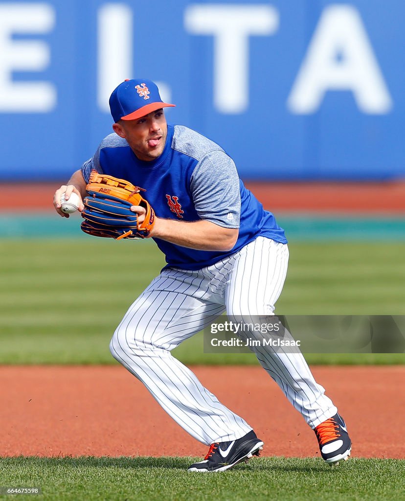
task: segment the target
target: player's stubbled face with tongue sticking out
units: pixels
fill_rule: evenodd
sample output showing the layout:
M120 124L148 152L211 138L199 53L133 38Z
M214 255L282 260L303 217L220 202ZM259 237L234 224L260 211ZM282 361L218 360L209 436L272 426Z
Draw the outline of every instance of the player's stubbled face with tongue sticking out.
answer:
M163 152L167 136L167 123L163 109L153 111L137 120L120 120L113 125L114 131L127 140L132 151L146 162Z

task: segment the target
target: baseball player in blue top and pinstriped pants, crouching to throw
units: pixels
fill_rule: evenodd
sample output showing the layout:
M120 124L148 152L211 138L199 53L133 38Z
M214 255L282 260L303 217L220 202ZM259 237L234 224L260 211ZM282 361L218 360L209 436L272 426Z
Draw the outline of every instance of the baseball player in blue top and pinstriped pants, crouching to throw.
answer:
M245 188L232 158L197 132L168 124L168 106L174 105L162 102L150 80L121 83L110 97L114 133L56 191L54 205L67 216L61 194L75 192L83 200L94 170L146 189L156 214L148 236L167 264L129 307L110 350L180 426L209 446L189 471L223 471L258 455L263 442L171 351L225 310L230 320L273 315L287 273L287 240L273 214ZM145 217L143 206L131 210L139 221ZM252 350L315 431L323 459L347 459L346 425L302 354L271 346Z

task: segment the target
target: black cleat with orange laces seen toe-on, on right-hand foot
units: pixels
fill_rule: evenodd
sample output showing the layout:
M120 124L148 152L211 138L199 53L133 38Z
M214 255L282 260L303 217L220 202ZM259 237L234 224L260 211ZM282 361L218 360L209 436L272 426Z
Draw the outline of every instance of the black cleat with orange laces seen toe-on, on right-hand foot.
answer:
M346 430L346 423L335 414L318 424L314 429L323 459L331 466L345 461L350 456L351 440Z

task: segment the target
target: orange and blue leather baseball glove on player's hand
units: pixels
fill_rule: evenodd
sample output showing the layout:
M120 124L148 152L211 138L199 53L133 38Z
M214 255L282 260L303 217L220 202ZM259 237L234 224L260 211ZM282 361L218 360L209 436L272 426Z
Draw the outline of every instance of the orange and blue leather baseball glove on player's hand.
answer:
M121 238L146 238L155 223L155 212L134 186L125 179L99 174L93 170L86 186L89 193L83 203L81 228L94 236ZM145 190L142 190L145 191ZM131 205L141 205L146 209L144 221L139 223Z

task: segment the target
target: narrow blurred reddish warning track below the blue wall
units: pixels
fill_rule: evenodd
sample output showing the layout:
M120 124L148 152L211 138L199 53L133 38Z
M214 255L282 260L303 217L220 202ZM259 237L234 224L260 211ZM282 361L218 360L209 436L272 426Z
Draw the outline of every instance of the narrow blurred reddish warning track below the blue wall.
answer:
M0 184L0 210L53 210L60 182ZM246 182L272 212L360 212L404 214L405 182ZM16 196L16 193L19 196ZM22 205L21 200L24 200Z

